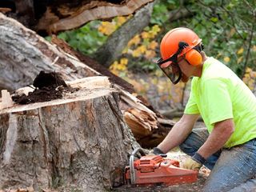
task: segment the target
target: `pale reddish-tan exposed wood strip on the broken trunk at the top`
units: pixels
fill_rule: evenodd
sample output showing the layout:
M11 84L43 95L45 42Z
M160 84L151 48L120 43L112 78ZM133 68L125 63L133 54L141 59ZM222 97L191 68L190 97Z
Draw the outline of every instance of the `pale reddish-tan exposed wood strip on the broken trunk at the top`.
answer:
M120 15L133 14L135 10L153 0L129 0L120 5L108 2L91 1L90 4L78 6L75 9L62 5L58 7L58 14L68 16L60 18L47 8L46 14L38 22L37 30L47 30L48 33L57 33L61 30L70 30L97 19L114 18ZM66 14L66 15L65 15Z

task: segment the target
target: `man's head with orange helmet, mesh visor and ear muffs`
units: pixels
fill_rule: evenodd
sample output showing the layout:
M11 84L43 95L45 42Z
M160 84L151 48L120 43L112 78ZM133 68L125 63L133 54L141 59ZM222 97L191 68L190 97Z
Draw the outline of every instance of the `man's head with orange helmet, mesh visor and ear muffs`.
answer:
M174 84L187 82L202 64L202 39L193 30L178 27L170 30L160 44L162 58L158 66Z

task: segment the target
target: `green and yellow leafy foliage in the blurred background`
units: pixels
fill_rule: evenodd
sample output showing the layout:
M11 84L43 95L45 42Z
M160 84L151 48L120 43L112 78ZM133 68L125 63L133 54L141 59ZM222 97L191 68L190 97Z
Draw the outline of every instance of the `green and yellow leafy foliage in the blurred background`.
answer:
M193 16L170 22L169 12L180 8L186 8ZM251 37L252 31L256 30L254 10L254 0L158 0L144 34L138 34L137 40L134 40L137 42L124 50L121 58L129 58L125 69L157 69L153 61L160 56L158 47L162 36L174 27L186 26L202 38L206 54L218 58L242 77L247 66L256 70L255 33ZM84 54L94 54L106 42L111 31L118 29L125 21L126 18L121 17L114 18L112 22L89 22L78 30L67 31L58 37ZM148 38L148 34L154 33L153 26L158 26L160 31L154 38ZM153 41L158 42L154 49L149 48Z

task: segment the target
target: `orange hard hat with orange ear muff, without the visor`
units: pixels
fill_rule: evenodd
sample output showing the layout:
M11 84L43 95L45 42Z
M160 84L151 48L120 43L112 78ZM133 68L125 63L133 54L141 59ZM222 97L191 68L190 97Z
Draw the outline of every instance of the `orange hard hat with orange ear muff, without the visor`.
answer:
M198 46L202 42L201 38L185 27L178 27L170 30L163 38L160 44L160 52L162 59L165 60L170 58L177 53L180 42L186 42L188 45L183 48L182 52L178 55L178 58L182 55L186 55L186 60L193 66L197 66L202 62L202 56L199 51L194 50L195 46ZM169 63L171 64L171 62ZM166 66L165 66L166 67Z

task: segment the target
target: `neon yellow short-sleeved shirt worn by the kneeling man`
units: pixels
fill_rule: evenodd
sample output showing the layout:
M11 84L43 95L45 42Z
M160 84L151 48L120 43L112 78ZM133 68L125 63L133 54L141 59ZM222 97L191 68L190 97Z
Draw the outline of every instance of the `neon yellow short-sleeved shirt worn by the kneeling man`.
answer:
M256 98L232 70L215 58L207 58L202 76L191 82L184 114L201 114L209 132L214 123L233 118L234 133L226 148L256 138Z

